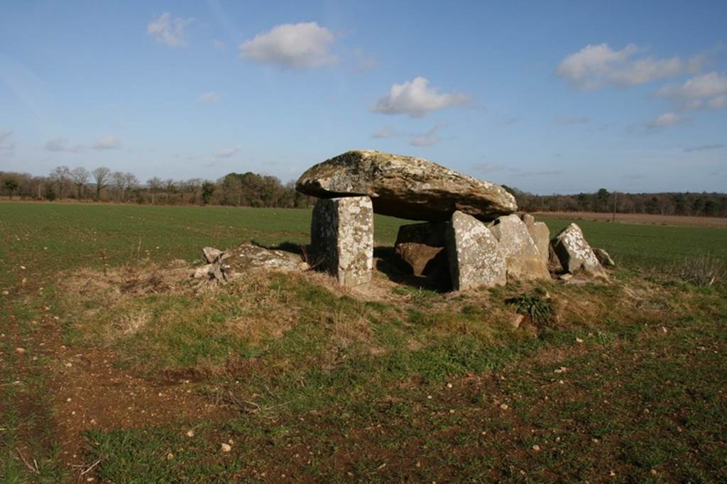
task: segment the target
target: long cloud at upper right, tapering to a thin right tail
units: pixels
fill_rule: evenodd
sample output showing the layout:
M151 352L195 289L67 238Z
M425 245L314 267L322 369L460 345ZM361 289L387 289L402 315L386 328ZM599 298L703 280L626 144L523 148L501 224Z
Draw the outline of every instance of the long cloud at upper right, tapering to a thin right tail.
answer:
M687 61L679 57L637 57L645 50L634 44L628 44L621 50L611 49L608 44L589 44L565 57L555 73L579 89L597 89L606 84L634 86L682 73L696 73L704 62L701 55Z

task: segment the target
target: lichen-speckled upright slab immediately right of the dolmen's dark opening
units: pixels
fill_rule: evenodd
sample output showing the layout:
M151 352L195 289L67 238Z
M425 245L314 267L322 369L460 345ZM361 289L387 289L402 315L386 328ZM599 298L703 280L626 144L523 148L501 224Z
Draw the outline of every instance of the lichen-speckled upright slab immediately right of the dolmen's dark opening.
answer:
M455 211L446 231L452 289L502 286L507 282L505 258L486 225Z

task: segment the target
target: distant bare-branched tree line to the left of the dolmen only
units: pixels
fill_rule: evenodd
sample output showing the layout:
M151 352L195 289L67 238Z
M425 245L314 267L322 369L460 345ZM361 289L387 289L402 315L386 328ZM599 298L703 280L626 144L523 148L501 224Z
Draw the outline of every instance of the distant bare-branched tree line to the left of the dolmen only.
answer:
M220 180L201 178L162 180L145 183L129 172L113 172L100 166L83 168L57 166L47 176L0 172L0 195L25 200L114 201L164 205L232 205L254 207L306 207L313 198L285 185L276 177L252 172L229 173Z

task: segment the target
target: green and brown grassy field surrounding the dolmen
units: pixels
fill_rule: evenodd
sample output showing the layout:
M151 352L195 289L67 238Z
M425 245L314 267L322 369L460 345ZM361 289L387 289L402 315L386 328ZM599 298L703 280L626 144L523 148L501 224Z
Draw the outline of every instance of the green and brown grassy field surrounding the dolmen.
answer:
M0 481L727 480L727 229L578 220L608 281L454 294L388 262L403 223L368 288L212 286L202 247L301 250L310 210L0 203Z

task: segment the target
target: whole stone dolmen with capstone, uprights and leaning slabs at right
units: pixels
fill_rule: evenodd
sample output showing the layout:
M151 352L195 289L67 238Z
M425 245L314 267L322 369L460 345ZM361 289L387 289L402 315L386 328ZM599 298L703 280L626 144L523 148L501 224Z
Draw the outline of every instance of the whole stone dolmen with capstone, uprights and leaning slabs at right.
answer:
M318 198L309 262L343 286L371 281L374 214L420 221L401 226L396 257L416 276L445 265L454 290L550 278L551 255L566 272L605 275L577 225L550 241L544 222L515 214L505 187L422 158L348 151L311 166L295 187Z

